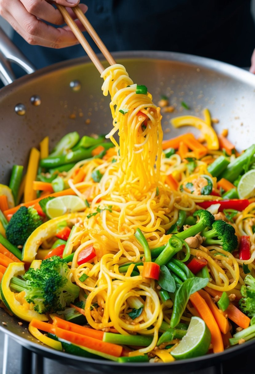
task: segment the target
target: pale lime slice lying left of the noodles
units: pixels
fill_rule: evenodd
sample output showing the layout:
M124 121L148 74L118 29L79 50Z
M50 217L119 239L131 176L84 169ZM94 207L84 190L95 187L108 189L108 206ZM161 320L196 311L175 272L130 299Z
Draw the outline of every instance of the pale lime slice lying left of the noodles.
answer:
M46 213L50 218L59 217L66 213L84 211L85 202L75 195L58 196L46 203Z

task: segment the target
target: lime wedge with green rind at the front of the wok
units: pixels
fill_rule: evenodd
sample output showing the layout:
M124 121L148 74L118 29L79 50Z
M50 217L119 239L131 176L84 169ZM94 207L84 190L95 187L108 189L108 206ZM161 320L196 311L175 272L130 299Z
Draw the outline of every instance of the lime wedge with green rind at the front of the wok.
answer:
M199 317L191 317L187 334L178 346L171 351L171 355L179 360L205 355L211 343L211 332L205 321Z

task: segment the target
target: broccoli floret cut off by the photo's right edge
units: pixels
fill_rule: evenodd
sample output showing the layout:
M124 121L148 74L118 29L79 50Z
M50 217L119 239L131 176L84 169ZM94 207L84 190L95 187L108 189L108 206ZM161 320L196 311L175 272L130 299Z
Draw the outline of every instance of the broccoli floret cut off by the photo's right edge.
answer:
M246 275L245 286L241 287L242 299L239 301L240 308L249 317L255 316L255 278Z

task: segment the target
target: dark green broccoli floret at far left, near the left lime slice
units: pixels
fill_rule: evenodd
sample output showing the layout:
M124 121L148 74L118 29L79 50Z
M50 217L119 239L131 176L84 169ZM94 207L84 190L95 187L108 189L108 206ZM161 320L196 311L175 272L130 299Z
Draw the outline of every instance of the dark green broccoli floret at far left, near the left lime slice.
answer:
M36 209L21 206L13 214L6 228L6 237L10 243L19 246L24 245L32 232L43 223Z

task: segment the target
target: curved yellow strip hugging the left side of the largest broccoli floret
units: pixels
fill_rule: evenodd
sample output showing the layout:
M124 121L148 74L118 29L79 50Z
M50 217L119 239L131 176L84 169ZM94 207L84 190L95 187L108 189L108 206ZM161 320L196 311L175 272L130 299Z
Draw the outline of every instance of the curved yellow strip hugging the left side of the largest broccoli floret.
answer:
M10 290L10 281L13 276L19 276L25 274L25 268L23 263L13 262L8 265L4 272L3 278L0 283L0 294L5 306L17 317L24 321L30 322L33 318L39 319L39 321L47 321L48 318L45 314L39 314L35 310L30 309L28 303L21 304L15 298L15 292ZM33 305L33 304L31 304Z

